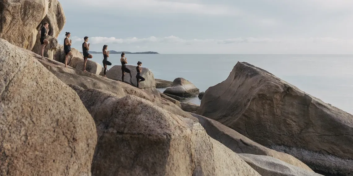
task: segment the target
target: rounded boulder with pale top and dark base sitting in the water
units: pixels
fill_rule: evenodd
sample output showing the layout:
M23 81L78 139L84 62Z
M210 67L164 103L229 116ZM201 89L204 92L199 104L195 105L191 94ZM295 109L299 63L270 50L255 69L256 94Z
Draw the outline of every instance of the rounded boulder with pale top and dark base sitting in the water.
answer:
M176 78L172 87L168 87L163 93L177 95L181 97L190 97L199 94L199 89L190 81L184 78Z

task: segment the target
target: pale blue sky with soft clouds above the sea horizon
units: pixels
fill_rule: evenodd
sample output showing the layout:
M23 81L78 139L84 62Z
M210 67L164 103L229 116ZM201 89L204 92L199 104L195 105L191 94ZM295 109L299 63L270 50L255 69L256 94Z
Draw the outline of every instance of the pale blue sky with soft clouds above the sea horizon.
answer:
M160 54L353 54L352 0L59 0L73 47Z

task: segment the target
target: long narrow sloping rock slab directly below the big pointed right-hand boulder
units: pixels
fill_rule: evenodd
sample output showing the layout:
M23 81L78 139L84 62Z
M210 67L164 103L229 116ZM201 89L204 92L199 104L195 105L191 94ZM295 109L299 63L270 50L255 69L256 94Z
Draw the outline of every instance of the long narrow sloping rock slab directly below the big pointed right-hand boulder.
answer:
M301 162L299 159L288 155L287 153L277 152L269 149L263 145L253 142L251 139L243 136L237 131L229 128L220 122L203 117L201 115L193 114L194 117L198 118L200 124L205 128L207 134L212 138L218 140L223 145L236 153L249 153L253 155L266 155L277 158L283 162L305 169L309 172L313 172L307 165Z

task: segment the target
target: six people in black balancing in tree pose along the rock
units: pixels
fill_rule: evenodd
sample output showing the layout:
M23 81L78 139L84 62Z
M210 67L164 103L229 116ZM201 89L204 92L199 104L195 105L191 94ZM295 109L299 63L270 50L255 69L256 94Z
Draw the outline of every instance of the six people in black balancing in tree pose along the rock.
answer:
M41 49L42 49L42 59L44 58L44 48L46 47L46 45L49 44L49 40L46 39L48 33L49 33L49 24L47 22L44 22L43 25L42 25L42 28L40 30L41 32ZM65 39L64 39L64 52L65 52L65 67L67 67L67 59L68 59L68 56L71 56L72 58L72 51L71 51L71 45L72 45L72 40L69 39L70 36L71 36L71 33L70 32L66 32L65 33ZM88 58L93 58L93 56L91 54L88 53L89 51L89 46L90 44L88 42L88 37L84 37L84 42L82 43L82 52L83 52L83 58L84 58L84 66L83 66L83 71L84 72L87 72L86 71L86 64L87 64L87 59ZM106 76L106 73L107 73L107 65L112 65L112 63L110 63L108 61L108 57L109 57L109 52L110 51L107 51L108 49L108 45L104 45L103 46L103 67L104 67L104 77L107 77ZM128 69L126 67L126 64L127 64L127 58L125 57L125 53L122 52L121 54L121 58L120 58L120 62L121 62L121 71L122 71L122 76L121 76L121 80L122 82L124 82L124 76L126 73L129 73L130 76L131 76L131 71L130 69ZM137 71L137 75L136 75L136 80L137 80L137 85L136 87L138 87L139 85L139 82L141 81L145 81L145 78L142 77L140 74L142 72L142 62L138 61L137 62L137 67L136 67L136 71ZM132 76L131 76L132 78ZM132 81L131 81L132 82Z

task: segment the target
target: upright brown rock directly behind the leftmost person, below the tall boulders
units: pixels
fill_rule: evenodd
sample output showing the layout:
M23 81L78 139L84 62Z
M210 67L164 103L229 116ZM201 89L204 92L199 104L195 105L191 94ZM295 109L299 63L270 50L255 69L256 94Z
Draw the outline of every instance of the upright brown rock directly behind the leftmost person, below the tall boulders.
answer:
M40 41L41 35L38 33L37 35L37 40L36 44L34 45L32 51L35 52L38 55L42 55L42 44ZM58 48L58 40L54 37L47 36L47 40L49 41L49 44L44 48L44 57L48 57L49 59L54 58L54 52L56 51L56 48Z

